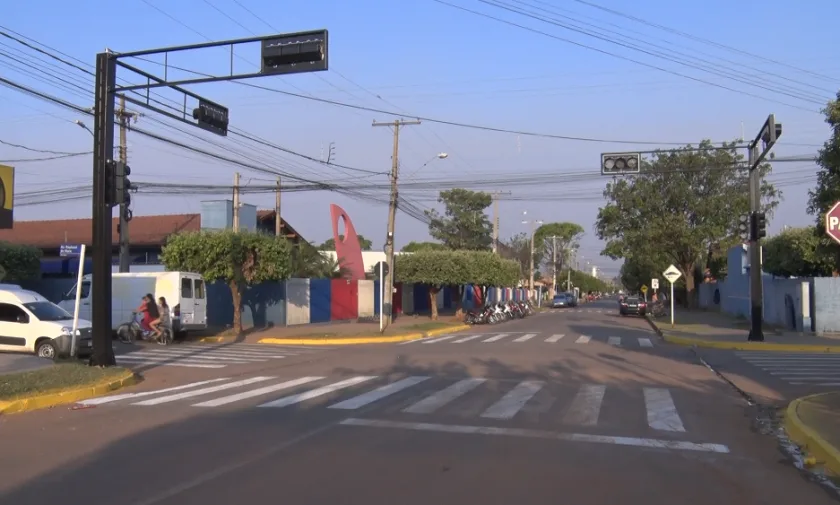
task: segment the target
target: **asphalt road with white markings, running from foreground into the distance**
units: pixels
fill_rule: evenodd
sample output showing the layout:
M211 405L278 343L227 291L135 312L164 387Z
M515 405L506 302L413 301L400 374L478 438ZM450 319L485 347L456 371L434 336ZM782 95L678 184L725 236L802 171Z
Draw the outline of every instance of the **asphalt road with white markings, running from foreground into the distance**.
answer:
M690 350L614 301L581 309L170 367L166 384L0 418L0 501L836 503L751 431L741 397Z

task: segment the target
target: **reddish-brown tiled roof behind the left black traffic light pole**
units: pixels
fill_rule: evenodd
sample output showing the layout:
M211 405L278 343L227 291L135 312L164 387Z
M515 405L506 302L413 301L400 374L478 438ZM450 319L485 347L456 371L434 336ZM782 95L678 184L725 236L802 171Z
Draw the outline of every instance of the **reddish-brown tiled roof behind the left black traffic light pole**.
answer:
M114 245L119 243L118 222L117 218L111 220ZM61 244L91 245L91 228L90 219L15 221L11 230L0 230L0 241L32 245L41 249L58 248ZM129 239L132 245L161 245L173 233L198 231L200 228L200 214L135 216L129 226Z

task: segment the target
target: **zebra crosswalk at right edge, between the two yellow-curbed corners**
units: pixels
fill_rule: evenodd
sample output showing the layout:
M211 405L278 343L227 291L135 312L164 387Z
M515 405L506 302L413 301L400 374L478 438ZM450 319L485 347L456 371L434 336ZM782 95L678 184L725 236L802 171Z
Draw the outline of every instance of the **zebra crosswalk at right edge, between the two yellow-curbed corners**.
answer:
M795 386L840 386L840 354L739 351L741 359Z

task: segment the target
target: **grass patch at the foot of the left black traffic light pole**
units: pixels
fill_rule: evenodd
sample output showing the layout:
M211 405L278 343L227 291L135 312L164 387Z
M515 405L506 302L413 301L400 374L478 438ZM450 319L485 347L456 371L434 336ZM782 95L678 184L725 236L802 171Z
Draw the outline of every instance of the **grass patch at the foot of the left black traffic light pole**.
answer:
M48 368L0 375L0 401L52 393L116 378L124 368L99 368L82 363L57 363Z

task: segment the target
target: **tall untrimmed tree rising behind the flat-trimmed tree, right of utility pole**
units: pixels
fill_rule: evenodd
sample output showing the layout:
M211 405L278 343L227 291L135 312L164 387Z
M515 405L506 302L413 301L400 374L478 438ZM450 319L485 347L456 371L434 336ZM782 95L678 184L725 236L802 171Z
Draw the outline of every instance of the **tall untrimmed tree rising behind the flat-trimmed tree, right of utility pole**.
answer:
M487 193L460 188L441 191L438 203L446 208L444 214L434 209L425 211L431 220L429 235L449 249L490 249L493 227L484 210L492 202L493 198Z

